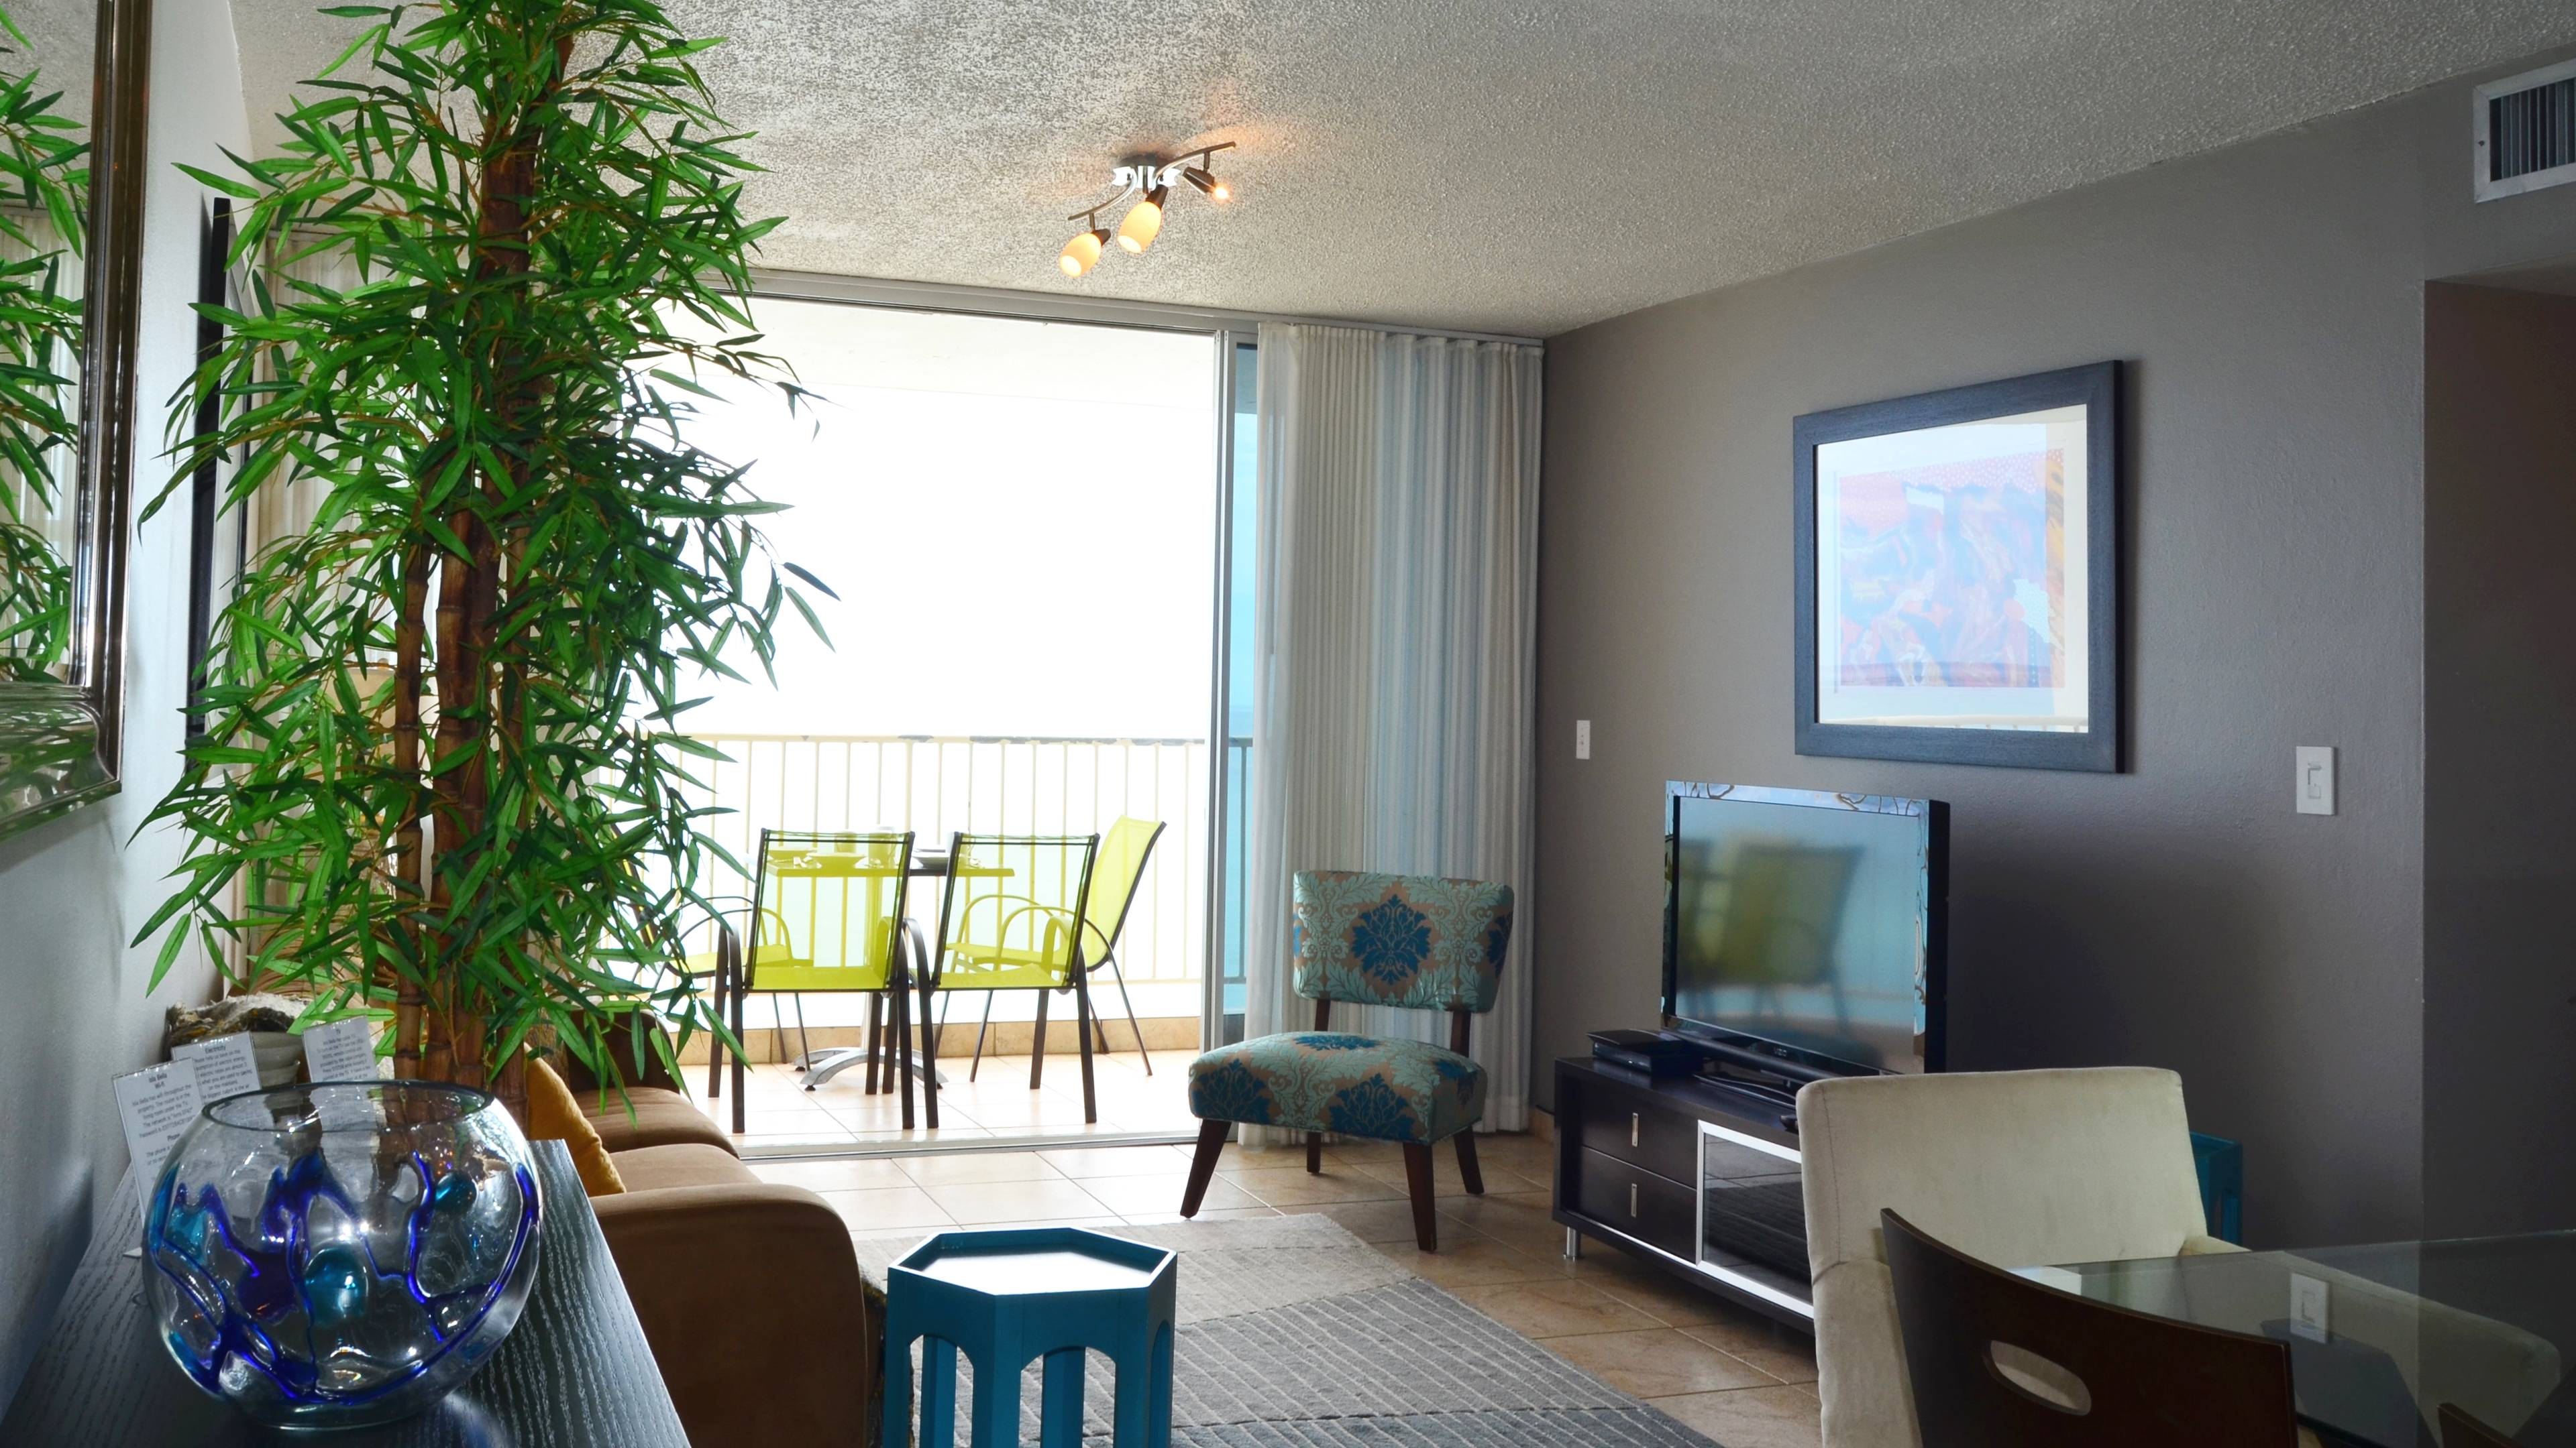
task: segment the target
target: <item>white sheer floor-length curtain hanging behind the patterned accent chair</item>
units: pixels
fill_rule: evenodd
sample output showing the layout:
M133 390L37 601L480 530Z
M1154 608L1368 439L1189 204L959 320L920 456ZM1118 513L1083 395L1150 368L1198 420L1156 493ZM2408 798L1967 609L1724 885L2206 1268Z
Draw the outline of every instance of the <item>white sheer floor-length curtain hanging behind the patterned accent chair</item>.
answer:
M1530 345L1260 332L1244 1028L1314 1025L1296 871L1507 881L1502 1002L1473 1025L1489 1131L1530 1121L1538 376ZM1334 1025L1448 1043L1427 1010L1337 1005Z

